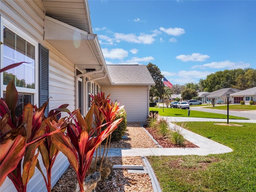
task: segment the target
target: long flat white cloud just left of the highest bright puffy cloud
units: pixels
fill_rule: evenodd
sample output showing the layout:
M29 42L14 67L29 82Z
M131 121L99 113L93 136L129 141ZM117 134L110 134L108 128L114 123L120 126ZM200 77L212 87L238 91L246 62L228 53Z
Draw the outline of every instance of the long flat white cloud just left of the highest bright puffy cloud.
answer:
M124 40L138 44L152 44L155 41L154 36L156 36L156 34L141 34L140 36L136 36L134 34L115 33L114 36L116 40Z

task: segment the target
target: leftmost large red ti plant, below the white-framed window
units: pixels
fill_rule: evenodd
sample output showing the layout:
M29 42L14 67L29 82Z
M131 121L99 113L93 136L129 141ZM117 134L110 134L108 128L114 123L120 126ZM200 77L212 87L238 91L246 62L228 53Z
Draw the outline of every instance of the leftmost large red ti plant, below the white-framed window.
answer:
M26 192L39 154L36 149L43 138L59 130L45 134L41 125L48 101L40 108L27 104L22 115L16 117L17 101L18 92L12 80L6 87L5 100L1 98L0 180L2 185L8 176L18 192Z

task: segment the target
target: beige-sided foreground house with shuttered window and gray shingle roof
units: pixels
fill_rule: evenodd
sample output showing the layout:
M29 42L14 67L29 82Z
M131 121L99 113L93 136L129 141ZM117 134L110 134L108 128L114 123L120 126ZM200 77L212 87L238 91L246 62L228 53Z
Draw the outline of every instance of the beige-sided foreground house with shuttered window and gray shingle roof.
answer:
M129 66L139 70L140 76L127 69L126 77L120 76L122 82L118 81L93 34L87 0L0 0L0 21L0 41L4 43L0 47L0 68L28 62L1 74L1 97L5 96L8 79L14 76L19 103L41 106L50 98L46 113L69 104L69 110L80 108L86 115L90 94L105 90L112 100L125 105L129 121L146 120L147 96L154 80L146 66ZM127 102L131 96L134 100ZM135 113L134 109L140 111ZM66 157L59 154L52 169L52 186L68 166ZM8 178L0 191L15 191ZM28 192L34 191L46 191L37 168L28 184Z

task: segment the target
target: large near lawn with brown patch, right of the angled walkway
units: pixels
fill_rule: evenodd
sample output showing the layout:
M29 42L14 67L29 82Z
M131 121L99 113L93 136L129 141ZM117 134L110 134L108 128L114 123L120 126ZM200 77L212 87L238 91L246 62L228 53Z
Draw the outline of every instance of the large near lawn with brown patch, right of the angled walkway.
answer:
M256 124L236 124L243 126L186 122L188 130L224 144L233 152L208 156L149 156L162 192L256 191Z

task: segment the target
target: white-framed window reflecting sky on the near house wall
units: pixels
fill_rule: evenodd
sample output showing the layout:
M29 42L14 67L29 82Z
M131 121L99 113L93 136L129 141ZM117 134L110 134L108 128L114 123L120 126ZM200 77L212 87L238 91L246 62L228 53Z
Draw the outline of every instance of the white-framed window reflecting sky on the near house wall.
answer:
M38 102L36 98L38 89L38 44L16 26L1 17L1 68L13 63L23 63L20 66L6 70L1 74L1 95L4 96L6 86L11 80L19 93L19 103Z

